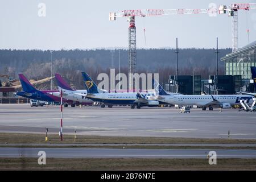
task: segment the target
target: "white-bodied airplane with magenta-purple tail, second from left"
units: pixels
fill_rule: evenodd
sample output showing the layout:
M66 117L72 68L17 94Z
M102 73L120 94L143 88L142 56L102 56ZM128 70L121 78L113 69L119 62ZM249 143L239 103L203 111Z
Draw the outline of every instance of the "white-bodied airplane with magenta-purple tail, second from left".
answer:
M55 79L58 85L59 90L57 92L53 92L52 95L56 97L61 97L60 91L62 90L62 97L73 101L71 107L75 107L76 104L82 105L92 105L93 101L86 98L87 90L74 90L68 83L60 76L60 74L55 74ZM67 106L67 105L65 105Z

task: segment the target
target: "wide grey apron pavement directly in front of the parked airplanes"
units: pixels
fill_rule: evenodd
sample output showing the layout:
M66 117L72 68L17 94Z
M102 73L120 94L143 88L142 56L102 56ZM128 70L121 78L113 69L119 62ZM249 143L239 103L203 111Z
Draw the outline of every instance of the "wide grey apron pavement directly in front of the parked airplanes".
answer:
M58 133L60 106L30 107L28 104L0 105L0 133ZM100 106L64 107L65 134L80 135L188 137L256 139L256 113L236 109L180 113L170 107L101 108Z

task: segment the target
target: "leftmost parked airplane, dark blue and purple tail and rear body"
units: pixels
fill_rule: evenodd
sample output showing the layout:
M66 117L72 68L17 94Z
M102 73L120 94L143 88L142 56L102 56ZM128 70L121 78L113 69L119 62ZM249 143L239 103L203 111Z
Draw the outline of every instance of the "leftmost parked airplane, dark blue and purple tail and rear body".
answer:
M15 93L16 95L46 102L60 102L59 97L51 94L59 92L59 90L37 90L23 74L19 74L19 80L23 91ZM72 103L73 101L64 99L63 102Z

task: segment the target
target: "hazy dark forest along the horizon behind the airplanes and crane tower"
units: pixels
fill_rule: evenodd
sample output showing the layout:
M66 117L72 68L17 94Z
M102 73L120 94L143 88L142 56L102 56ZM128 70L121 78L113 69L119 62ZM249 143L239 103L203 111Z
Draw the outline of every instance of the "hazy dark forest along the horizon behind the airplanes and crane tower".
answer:
M219 58L232 52L219 49ZM179 49L179 75L192 75L193 49ZM81 71L94 79L99 73L109 73L119 68L119 49L61 50L53 51L53 73L60 73L74 88L82 88ZM120 50L121 72L128 72L128 51ZM194 49L195 75L208 78L216 72L214 49ZM175 49L137 49L138 73L159 73L159 81L167 82L168 75L176 74ZM39 80L51 76L51 53L42 50L0 50L0 75L18 78L23 73L29 79ZM219 61L219 74L224 74L224 63Z

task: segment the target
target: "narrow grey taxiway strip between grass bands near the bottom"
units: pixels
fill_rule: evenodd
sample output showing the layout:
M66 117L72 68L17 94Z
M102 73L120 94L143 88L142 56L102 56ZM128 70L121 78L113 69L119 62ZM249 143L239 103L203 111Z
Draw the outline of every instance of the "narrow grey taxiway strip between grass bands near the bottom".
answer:
M110 149L110 148L0 148L0 158L200 158L207 159L210 149ZM217 158L256 158L256 150L214 150Z

